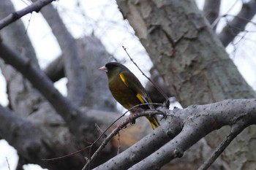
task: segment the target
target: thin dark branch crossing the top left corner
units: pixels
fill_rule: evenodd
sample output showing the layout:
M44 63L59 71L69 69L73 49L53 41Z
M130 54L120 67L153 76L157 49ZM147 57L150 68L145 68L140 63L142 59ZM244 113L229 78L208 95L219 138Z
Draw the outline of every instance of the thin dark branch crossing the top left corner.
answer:
M45 7L45 5L48 5L53 1L55 0L39 0L24 9L21 9L17 12L12 12L6 18L0 20L0 30L5 26L8 26L10 23L15 22L15 20L22 18L24 15L27 15L31 12L39 12L42 7Z

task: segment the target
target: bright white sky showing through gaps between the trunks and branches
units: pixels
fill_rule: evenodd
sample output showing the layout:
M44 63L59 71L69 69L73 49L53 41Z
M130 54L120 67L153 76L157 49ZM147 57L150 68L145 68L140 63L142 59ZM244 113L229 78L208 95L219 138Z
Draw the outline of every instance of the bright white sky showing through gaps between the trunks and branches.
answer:
M22 9L30 4L27 0L12 0L16 9ZM197 0L200 9L203 8L203 1ZM101 1L80 1L78 0L59 0L54 1L53 5L59 10L61 16L64 18L64 23L67 24L69 31L75 38L80 38L94 33L99 39L102 40L103 45L107 48L110 54L118 56L119 61L126 61L125 65L131 70L138 70L127 58L127 54L121 47L127 47L129 55L135 59L136 63L143 68L143 72L148 74L152 63L138 38L135 36L134 31L129 26L127 20L123 20L121 13L118 11L116 2L113 0ZM241 1L238 0L223 0L221 6L221 14L236 15L241 8ZM220 31L225 26L225 18L219 18L219 26L217 31ZM48 65L51 61L61 54L61 50L56 43L56 39L50 31L45 20L39 13L33 12L32 15L26 15L22 18L28 31L27 34L31 37L31 41L36 50L39 64L42 68ZM255 18L254 18L255 20ZM255 25L249 24L246 27L246 33L241 34L235 40L234 45L229 45L226 50L233 59L238 70L244 76L249 85L256 89L256 58L255 58ZM243 37L243 39L241 39ZM142 60L143 58L143 60ZM147 62L143 62L147 61ZM138 78L146 84L146 79L139 73L134 72ZM67 80L62 79L56 82L58 88L64 95L67 94L66 89ZM0 74L0 104L6 106L8 104L4 78ZM18 161L17 152L8 147L7 142L0 140L0 169L15 169ZM8 163L7 163L8 161ZM28 169L39 169L39 166L26 166Z

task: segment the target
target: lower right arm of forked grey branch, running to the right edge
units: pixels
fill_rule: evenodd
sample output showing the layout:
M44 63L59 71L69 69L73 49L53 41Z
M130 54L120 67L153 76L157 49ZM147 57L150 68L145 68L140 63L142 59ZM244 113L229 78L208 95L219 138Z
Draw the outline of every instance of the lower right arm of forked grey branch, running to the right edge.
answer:
M255 101L256 99L225 100L214 104L195 105L187 107L187 109L179 109L176 116L186 116L181 133L157 152L132 166L132 169L138 169L138 167L157 169L174 158L178 158L206 134L224 125L235 125L241 120L247 126L252 123L255 124Z

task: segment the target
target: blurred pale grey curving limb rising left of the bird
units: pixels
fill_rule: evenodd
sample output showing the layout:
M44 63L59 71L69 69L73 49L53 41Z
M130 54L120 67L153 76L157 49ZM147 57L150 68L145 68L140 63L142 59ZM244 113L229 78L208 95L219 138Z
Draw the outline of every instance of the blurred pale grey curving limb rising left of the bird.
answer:
M74 104L80 106L86 98L86 80L83 78L78 46L74 37L69 33L53 5L42 9L42 15L48 22L61 47L65 75L68 79L67 95Z

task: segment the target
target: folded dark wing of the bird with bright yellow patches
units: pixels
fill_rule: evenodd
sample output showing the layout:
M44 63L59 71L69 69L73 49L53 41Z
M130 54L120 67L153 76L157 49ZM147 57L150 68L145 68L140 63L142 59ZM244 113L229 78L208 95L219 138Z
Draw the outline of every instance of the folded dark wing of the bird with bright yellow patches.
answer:
M151 99L149 98L148 93L146 93L145 88L143 88L143 85L141 85L138 78L135 77L132 72L121 72L119 74L119 77L128 88L135 92L136 97L140 100L142 104L151 103ZM149 105L148 107L150 107L150 109L153 108L151 105Z

